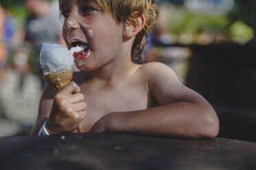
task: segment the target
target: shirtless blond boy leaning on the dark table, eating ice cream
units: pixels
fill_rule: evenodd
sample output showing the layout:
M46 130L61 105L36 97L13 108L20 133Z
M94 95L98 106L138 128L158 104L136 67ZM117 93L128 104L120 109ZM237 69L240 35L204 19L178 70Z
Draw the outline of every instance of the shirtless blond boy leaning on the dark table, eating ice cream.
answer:
M153 0L60 0L67 47L81 47L81 72L59 93L48 84L32 130L123 132L212 138L219 121L211 105L183 86L164 64L134 64L143 38L158 17ZM76 82L76 83L75 83ZM73 93L73 95L70 95ZM46 123L44 123L46 122Z

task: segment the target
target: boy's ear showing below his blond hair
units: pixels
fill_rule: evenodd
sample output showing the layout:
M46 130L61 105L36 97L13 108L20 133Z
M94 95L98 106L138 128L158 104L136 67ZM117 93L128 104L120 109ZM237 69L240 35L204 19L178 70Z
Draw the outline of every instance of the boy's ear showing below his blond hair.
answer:
M144 27L146 23L146 19L144 14L138 16L138 12L134 12L134 18L125 23L125 28L123 30L122 37L123 38L132 38L136 36L138 32Z

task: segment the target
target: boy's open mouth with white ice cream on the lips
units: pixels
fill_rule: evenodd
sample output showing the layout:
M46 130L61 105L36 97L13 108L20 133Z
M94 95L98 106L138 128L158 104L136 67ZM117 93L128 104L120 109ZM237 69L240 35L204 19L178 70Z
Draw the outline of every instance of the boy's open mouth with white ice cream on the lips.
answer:
M71 44L70 53L76 59L88 58L90 56L89 45L85 42L75 41Z

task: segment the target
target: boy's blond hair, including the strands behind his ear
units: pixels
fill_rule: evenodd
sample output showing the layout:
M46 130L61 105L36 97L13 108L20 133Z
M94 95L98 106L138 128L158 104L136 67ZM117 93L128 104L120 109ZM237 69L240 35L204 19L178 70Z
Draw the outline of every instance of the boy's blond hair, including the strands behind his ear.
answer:
M134 12L140 16L145 16L145 26L138 32L131 49L131 60L133 62L142 61L142 53L145 49L147 34L153 23L158 19L159 10L154 4L154 0L90 0L94 1L103 12L113 16L117 23L129 24L129 21L135 19ZM63 0L59 0L60 8Z

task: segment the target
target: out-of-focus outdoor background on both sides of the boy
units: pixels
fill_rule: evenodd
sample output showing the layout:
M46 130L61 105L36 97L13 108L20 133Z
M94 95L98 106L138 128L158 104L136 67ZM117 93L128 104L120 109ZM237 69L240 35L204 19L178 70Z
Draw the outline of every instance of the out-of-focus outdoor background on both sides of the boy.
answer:
M145 62L170 66L220 119L219 137L256 142L256 1L156 0ZM43 87L39 51L63 43L58 1L0 0L0 136L28 135Z

